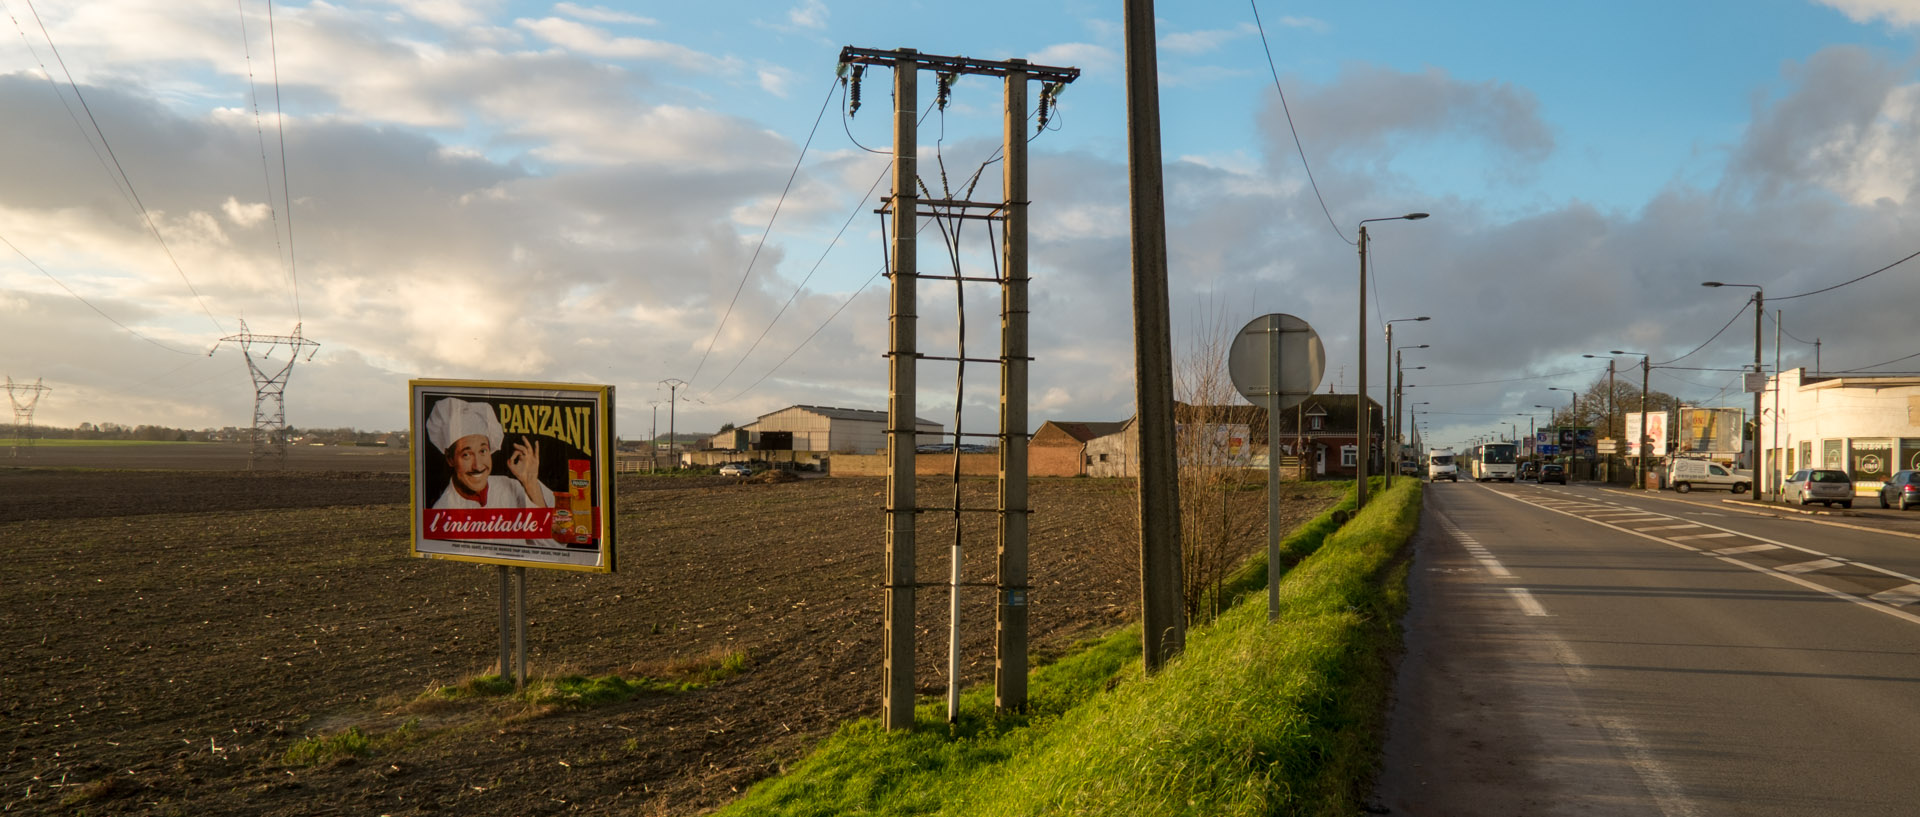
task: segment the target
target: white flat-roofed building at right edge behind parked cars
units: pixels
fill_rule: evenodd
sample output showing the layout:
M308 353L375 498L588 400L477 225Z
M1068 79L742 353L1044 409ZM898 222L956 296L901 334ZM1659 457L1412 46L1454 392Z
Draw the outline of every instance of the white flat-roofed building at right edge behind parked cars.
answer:
M1761 407L1761 447L1774 479L1801 468L1837 468L1853 474L1855 489L1864 493L1893 472L1920 470L1920 376L1811 376L1793 368L1768 384Z

